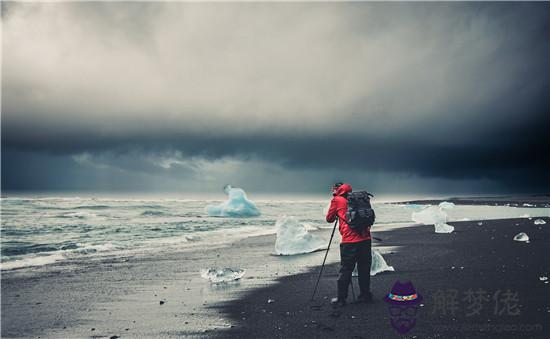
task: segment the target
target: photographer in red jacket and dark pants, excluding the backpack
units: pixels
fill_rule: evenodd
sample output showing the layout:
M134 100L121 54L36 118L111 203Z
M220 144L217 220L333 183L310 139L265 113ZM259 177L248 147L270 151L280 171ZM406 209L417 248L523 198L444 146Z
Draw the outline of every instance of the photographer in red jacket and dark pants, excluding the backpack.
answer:
M371 236L370 227L362 233L352 230L346 223L346 212L348 210L347 195L351 193L351 186L337 183L332 187L333 198L327 213L327 222L334 222L339 219L339 231L342 235L340 243L340 275L338 276L338 297L333 303L344 306L348 297L348 287L351 283L351 275L355 264L359 273L358 302L372 301L370 292L370 265L371 257Z

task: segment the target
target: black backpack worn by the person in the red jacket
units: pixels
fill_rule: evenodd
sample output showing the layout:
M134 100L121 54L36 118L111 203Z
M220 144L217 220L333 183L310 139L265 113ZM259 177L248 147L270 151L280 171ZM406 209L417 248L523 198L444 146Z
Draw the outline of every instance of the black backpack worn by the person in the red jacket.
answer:
M361 233L374 224L374 210L370 205L370 197L372 196L367 191L348 194L346 222L352 230Z

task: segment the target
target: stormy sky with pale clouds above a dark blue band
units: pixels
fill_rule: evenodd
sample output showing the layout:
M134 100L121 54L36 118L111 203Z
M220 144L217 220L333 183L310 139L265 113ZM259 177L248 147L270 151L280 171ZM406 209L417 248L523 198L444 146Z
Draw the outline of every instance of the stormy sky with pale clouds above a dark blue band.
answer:
M2 2L2 190L550 190L549 3Z

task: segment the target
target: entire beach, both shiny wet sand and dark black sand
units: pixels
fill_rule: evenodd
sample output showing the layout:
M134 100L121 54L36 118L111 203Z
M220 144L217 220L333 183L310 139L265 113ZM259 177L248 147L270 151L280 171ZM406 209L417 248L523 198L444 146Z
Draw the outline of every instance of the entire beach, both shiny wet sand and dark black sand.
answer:
M315 302L309 298L323 252L270 255L273 235L217 249L5 272L2 337L399 337L382 301L397 280L411 280L424 296L406 337L547 337L550 284L539 277L550 274L550 219L543 219L546 225L527 218L456 222L451 234L436 234L433 226L375 228L383 238L375 246L397 247L384 254L396 271L373 277L374 303L348 305L341 313L329 305L336 241ZM513 241L518 232L530 243ZM205 267L241 267L247 274L234 284L210 285L198 272ZM471 316L463 300L470 289L483 289L488 298ZM493 297L507 292L512 302L496 306ZM434 303L437 295L449 300Z

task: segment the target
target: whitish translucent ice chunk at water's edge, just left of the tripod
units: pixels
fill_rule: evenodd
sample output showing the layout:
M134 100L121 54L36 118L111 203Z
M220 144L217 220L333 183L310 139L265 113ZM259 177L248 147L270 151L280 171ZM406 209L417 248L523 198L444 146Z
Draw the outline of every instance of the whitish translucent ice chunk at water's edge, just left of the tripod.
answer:
M277 240L275 254L294 255L327 248L328 241L311 234L306 226L292 216L282 216L275 223Z

